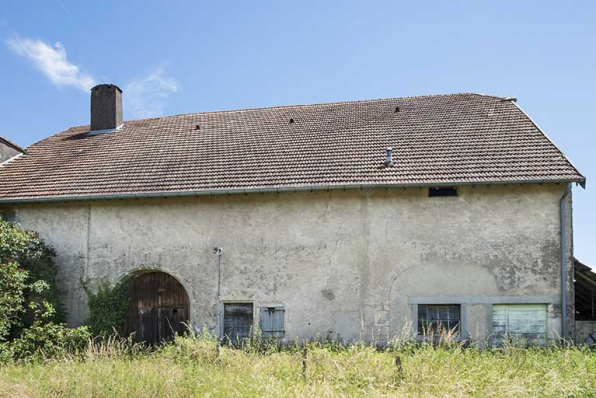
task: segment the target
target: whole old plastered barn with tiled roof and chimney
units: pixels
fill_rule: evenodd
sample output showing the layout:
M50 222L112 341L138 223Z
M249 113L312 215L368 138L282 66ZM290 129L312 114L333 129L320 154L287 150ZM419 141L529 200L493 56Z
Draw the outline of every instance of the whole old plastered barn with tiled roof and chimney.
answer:
M58 252L68 322L127 281L127 324L387 342L574 326L572 183L513 98L431 95L91 123L0 168L0 213Z

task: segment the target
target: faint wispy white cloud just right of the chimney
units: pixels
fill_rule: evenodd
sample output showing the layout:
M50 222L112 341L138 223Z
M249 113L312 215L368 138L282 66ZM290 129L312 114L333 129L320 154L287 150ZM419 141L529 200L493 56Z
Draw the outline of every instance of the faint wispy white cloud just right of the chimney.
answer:
M149 76L134 80L124 90L125 109L134 118L161 116L168 97L178 92L179 84L158 68Z

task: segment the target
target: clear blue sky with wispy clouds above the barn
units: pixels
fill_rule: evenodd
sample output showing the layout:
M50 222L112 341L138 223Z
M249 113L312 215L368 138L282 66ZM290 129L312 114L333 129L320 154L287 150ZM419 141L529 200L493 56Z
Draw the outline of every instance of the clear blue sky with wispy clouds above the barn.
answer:
M596 2L419 3L3 2L0 135L29 145L87 124L97 82L124 89L125 119L513 96L588 177L587 190L574 189L575 251L596 265Z

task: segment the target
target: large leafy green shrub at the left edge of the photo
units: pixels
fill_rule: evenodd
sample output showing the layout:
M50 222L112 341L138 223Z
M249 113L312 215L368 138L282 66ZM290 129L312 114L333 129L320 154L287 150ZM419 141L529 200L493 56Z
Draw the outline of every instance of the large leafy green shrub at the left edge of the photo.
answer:
M91 336L62 324L54 256L37 233L0 221L0 363L72 353Z

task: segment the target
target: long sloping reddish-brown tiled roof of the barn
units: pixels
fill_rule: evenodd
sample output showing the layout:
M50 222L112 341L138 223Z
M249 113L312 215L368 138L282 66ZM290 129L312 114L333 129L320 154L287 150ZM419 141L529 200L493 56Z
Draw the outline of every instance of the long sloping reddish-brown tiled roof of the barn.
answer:
M0 200L585 180L513 101L479 94L196 113L88 131L72 127L28 147L0 169ZM384 167L388 147L394 165Z

